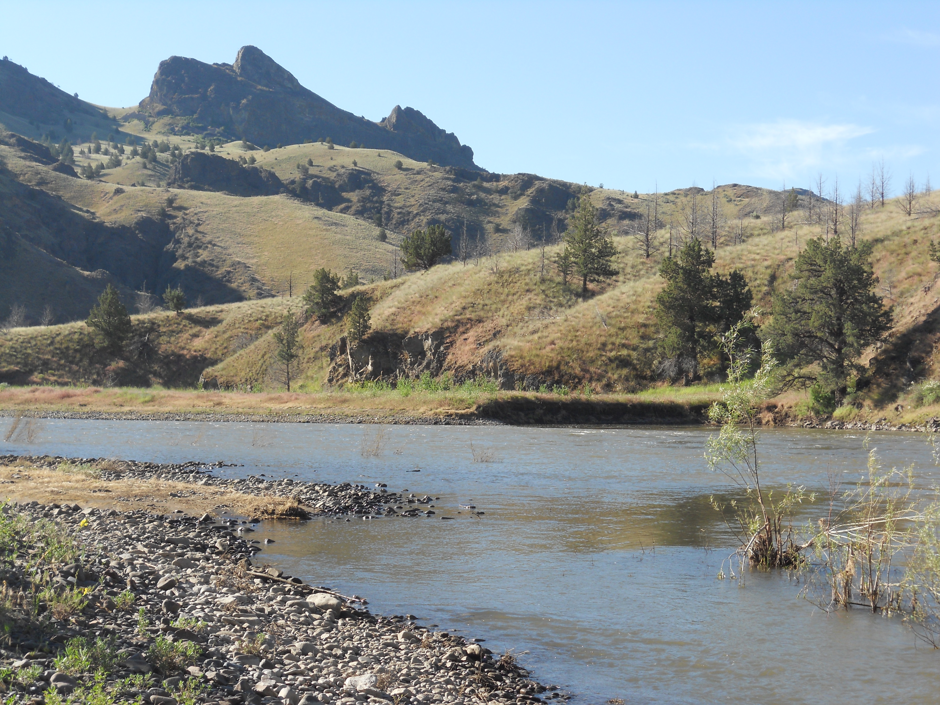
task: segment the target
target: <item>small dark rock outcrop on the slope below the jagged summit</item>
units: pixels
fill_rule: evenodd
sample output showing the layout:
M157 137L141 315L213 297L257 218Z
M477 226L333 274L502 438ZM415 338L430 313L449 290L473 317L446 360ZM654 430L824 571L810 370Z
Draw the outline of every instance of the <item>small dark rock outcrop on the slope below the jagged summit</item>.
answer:
M191 151L173 164L166 179L172 188L219 191L232 196L274 196L284 184L269 169L243 166L232 159Z

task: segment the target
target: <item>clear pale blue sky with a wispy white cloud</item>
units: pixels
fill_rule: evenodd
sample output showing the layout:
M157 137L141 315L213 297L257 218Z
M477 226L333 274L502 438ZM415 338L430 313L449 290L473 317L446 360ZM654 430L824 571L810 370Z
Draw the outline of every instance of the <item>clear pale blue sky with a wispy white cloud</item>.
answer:
M255 44L368 118L399 103L491 171L651 191L940 185L937 3L0 2L0 55L131 105L169 55ZM15 28L15 30L14 30Z

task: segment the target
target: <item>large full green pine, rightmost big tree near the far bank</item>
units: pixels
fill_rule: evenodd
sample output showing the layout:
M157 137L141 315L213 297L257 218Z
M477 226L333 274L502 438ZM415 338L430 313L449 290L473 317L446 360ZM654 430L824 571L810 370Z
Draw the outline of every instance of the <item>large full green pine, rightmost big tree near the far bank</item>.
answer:
M774 297L767 332L786 363L785 382L817 382L844 398L861 352L890 330L891 312L875 294L869 242L842 246L837 237L807 242L796 258L792 290ZM818 366L818 367L817 367Z

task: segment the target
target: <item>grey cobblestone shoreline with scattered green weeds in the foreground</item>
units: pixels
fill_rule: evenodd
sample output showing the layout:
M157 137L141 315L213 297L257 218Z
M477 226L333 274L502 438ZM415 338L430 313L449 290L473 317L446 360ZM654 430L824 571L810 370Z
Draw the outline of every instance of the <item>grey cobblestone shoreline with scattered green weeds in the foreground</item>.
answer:
M0 457L14 460L62 461ZM407 501L348 483L215 478L208 471L219 463L123 464L102 475L263 487L317 500L305 502L311 514L386 515ZM361 598L263 564L258 541L247 538L251 521L6 505L0 535L10 537L14 525L46 526L53 542L76 548L64 564L39 544L5 546L0 689L34 705L85 702L95 688L104 698L96 702L151 705L528 705L569 697L530 680L509 653L417 626L411 616L373 615ZM63 606L70 604L71 612Z

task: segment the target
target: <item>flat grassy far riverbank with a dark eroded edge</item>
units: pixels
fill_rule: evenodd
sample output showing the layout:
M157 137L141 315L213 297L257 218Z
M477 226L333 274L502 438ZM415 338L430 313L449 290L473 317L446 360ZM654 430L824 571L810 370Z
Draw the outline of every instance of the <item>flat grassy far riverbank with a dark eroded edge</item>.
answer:
M222 392L138 387L7 386L0 415L133 420L288 421L383 424L633 424L701 423L711 388L672 395L540 394L460 389L402 394L398 389Z

